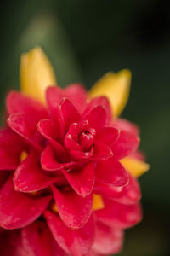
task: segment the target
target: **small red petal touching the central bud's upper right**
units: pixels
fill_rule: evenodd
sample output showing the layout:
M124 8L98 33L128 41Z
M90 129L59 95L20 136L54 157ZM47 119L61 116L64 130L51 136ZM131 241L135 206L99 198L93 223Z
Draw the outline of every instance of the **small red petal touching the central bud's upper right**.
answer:
M105 125L106 113L105 108L98 106L85 114L84 120L88 120L90 126L96 130L101 129Z

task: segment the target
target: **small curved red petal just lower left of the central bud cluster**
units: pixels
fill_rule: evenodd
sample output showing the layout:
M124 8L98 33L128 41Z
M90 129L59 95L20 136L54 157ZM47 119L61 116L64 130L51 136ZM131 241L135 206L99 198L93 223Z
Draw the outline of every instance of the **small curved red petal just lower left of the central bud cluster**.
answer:
M64 167L70 167L73 164L73 162L62 163L56 160L54 158L54 150L50 146L47 146L42 153L41 165L42 169L45 171L57 171Z

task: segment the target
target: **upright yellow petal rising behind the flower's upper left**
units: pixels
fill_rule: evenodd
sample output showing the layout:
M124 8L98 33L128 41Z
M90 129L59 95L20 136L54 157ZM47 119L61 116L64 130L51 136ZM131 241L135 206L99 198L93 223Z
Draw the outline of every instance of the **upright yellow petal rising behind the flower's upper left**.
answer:
M26 96L45 103L45 90L54 84L54 69L40 47L21 55L20 88Z

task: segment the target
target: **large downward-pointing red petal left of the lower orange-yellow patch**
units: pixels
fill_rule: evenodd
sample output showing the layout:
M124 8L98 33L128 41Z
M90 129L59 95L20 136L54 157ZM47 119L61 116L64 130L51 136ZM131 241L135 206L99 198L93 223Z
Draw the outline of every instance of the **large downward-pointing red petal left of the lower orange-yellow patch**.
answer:
M82 198L73 190L61 192L54 186L52 189L59 215L68 227L79 229L88 222L92 212L92 195Z

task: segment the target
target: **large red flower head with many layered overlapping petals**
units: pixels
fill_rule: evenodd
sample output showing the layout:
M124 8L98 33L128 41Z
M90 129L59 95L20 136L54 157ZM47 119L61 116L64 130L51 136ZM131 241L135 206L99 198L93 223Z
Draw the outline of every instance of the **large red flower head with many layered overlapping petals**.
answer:
M117 253L123 230L142 218L139 183L126 166L127 158L146 165L137 153L138 128L113 119L108 98L89 100L80 84L48 87L46 102L14 91L7 96L2 255Z

